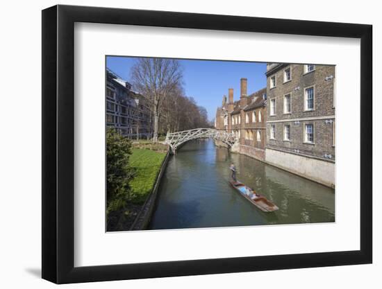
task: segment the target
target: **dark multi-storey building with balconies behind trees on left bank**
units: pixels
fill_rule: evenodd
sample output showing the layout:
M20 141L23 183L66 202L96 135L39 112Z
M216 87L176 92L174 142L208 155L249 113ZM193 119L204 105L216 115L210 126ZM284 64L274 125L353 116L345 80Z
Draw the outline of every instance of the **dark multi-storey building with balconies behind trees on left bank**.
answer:
M106 71L106 125L130 139L149 139L153 126L151 110L131 84Z

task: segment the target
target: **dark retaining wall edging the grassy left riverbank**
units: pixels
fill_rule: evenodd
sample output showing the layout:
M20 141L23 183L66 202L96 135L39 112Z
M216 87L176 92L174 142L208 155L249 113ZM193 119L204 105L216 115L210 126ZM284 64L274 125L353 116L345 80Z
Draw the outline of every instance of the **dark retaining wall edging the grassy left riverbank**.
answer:
M131 225L130 231L141 231L141 230L147 229L147 226L149 225L149 222L151 220L151 216L153 216L154 208L156 206L160 180L163 177L163 173L165 173L165 169L167 167L167 163L170 156L170 151L171 149L169 148L167 150L166 157L163 160L162 166L160 167L159 173L156 177L156 182L153 186L153 190L151 191L150 195L147 197L146 202L144 202L142 209L140 210L140 213L138 213L138 216L135 218L135 221L133 222L133 225Z

